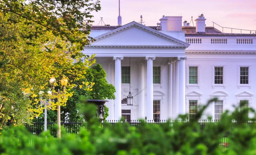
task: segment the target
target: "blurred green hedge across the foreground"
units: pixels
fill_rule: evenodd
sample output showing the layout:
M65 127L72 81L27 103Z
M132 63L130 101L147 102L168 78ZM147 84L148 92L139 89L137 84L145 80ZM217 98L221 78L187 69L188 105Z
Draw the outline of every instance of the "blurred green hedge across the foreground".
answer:
M209 101L209 105L212 101ZM1 155L255 155L255 118L248 118L253 109L236 108L224 112L220 121L208 123L204 129L198 123L204 112L199 110L194 120L163 124L146 124L137 127L128 123L101 124L95 118L94 107L87 104L81 111L87 129L78 135L61 133L61 139L50 132L32 135L24 127L11 127L0 135ZM92 113L93 112L93 113ZM187 116L180 116L180 119ZM235 122L234 122L235 120ZM125 127L123 127L125 126ZM125 129L125 130L124 130ZM64 131L64 129L62 129ZM228 136L226 149L220 144Z

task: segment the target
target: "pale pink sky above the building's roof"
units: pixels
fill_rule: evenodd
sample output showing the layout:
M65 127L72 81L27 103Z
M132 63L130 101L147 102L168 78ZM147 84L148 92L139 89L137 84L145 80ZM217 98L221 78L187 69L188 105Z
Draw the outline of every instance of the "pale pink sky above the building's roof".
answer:
M105 24L117 25L118 0L100 1L102 9L93 12L93 25L99 24L100 17ZM140 15L147 26L156 26L163 15L181 15L182 21L188 22L193 17L195 24L198 14L203 13L206 26L215 22L223 27L256 31L256 0L120 0L120 8L122 25L139 22Z

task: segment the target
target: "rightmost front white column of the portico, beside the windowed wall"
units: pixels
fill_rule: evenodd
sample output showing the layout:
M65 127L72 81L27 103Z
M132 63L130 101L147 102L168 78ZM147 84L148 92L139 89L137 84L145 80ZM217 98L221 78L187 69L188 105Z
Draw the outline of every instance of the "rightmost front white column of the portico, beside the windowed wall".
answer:
M179 114L185 114L185 59L178 57L179 60Z

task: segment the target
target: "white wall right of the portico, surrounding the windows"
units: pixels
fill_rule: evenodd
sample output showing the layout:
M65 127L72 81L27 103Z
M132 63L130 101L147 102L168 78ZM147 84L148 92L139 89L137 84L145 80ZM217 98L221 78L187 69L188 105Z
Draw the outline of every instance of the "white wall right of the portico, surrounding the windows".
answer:
M201 104L207 103L209 99L212 98L212 93L215 91L223 91L228 95L226 97L221 97L224 100L224 110L234 110L233 105L239 105L238 98L236 94L243 91L254 94L256 92L256 81L254 77L256 76L256 56L255 55L240 55L240 54L187 54L187 61L185 61L186 67L188 65L199 65L199 76L198 82L201 83L198 86L188 86L186 87L186 93L196 91L201 93ZM226 86L213 86L213 66L220 65L224 66L224 82ZM251 82L251 87L239 87L239 65L249 66L249 84ZM187 68L186 68L187 69ZM186 71L186 79L187 79ZM249 96L247 96L250 98ZM251 97L254 100L254 97ZM255 102L255 101L253 101ZM250 103L250 107L256 109L256 104ZM213 114L213 106L208 107L207 114Z

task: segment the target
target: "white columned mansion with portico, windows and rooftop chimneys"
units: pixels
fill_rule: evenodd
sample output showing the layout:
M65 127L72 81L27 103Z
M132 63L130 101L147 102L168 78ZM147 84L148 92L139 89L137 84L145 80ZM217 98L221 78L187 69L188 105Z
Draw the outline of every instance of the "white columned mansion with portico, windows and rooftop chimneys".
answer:
M256 34L222 33L205 20L199 16L195 27L174 16L161 18L161 27L92 26L96 41L83 53L96 54L116 87L109 120L159 121L185 113L191 119L213 97L218 101L205 113L212 119L244 100L256 109Z

